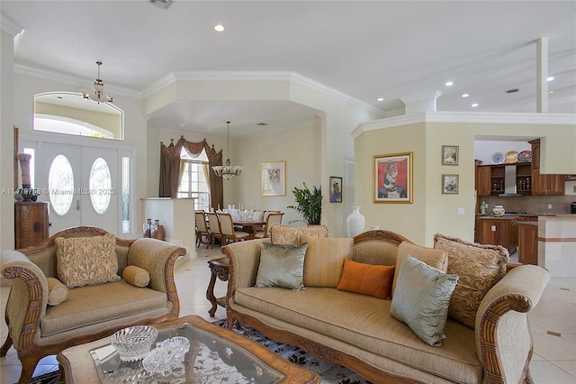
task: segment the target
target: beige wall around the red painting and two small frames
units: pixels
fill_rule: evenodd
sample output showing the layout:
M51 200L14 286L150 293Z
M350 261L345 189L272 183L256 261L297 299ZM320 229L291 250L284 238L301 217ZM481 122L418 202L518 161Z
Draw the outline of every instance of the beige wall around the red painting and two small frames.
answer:
M518 114L518 121L502 119L500 114L484 114L474 119L464 114L427 113L360 124L355 130L356 190L362 190L361 212L366 227L401 233L413 242L431 246L434 233L445 233L473 241L474 230L474 140L492 137L502 140L545 138L543 164L551 173L572 174L576 171L576 124L574 116ZM507 114L509 116L509 114ZM446 120L445 123L439 120ZM456 120L460 119L460 122ZM505 120L498 122L499 119ZM471 121L474 120L474 121ZM531 123L530 123L531 121ZM564 122L564 123L563 123ZM569 122L569 123L565 123ZM441 165L442 145L457 145L457 166ZM373 203L373 156L375 154L412 151L414 153L413 204ZM457 195L442 194L442 174L460 178ZM464 215L457 215L464 208Z

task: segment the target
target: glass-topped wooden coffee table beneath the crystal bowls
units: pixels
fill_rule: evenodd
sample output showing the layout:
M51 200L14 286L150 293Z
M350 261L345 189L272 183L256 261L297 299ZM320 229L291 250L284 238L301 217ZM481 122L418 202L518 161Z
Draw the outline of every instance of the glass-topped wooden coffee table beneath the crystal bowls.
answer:
M199 316L154 325L157 342L174 336L190 341L182 366L158 376L142 367L142 361L121 361L110 337L67 348L58 362L67 383L320 383L316 372L285 360L246 336ZM154 344L156 345L156 343ZM154 348L154 345L152 348Z

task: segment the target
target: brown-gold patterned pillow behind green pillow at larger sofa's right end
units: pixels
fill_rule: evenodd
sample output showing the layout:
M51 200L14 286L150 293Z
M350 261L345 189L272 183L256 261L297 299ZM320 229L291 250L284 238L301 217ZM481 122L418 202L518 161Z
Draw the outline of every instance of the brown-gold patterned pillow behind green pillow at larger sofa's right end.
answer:
M482 298L506 274L509 251L500 245L465 242L441 233L434 235L434 248L446 251L448 273L460 277L448 316L474 329Z

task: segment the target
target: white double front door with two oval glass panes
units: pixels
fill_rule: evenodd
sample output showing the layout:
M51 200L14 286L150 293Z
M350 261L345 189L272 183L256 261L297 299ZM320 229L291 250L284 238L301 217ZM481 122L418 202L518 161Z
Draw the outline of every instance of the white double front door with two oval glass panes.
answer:
M120 164L125 151L56 142L35 145L36 185L32 187L41 190L39 201L50 203L49 234L92 225L119 235L123 220L121 174L127 171Z

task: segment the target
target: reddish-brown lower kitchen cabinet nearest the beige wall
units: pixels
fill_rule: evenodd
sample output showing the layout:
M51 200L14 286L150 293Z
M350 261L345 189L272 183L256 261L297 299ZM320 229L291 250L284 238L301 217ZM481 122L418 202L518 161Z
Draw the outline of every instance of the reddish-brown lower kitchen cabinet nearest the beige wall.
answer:
M518 226L516 217L480 218L478 242L481 244L501 245L510 253L518 247Z

